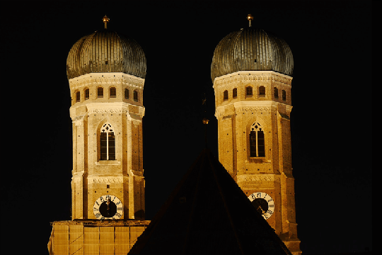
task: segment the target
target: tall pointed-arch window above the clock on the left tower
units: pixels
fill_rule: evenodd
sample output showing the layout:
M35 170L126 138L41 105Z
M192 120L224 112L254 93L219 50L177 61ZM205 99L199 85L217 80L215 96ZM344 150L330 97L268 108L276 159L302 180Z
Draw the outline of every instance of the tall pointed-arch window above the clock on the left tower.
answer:
M109 123L100 129L100 160L115 160L115 136Z

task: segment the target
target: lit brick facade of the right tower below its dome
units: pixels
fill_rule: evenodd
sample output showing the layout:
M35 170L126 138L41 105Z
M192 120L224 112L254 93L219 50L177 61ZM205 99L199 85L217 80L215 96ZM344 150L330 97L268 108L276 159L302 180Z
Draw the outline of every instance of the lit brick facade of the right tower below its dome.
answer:
M247 196L263 192L273 198L274 213L267 222L293 254L301 254L291 168L291 79L273 71L218 77L214 79L215 115L219 161ZM254 127L261 127L264 134L265 155L261 157L250 154Z

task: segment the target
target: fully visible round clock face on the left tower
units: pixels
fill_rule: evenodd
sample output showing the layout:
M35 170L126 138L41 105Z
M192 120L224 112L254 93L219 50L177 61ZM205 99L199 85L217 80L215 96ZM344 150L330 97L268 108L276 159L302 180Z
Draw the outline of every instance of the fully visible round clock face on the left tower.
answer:
M123 205L120 198L104 195L94 203L93 213L98 220L118 220L122 217Z

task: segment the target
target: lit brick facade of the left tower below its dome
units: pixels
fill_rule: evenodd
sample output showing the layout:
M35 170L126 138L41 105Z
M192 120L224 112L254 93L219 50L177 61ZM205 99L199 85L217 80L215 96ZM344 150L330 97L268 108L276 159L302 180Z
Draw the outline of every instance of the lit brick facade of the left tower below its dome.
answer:
M69 79L69 86L73 121L72 220L96 220L93 205L103 195L122 201L120 219L144 220L144 79L125 73L91 73ZM115 156L108 160L101 159L100 149L100 133L105 125L115 137Z

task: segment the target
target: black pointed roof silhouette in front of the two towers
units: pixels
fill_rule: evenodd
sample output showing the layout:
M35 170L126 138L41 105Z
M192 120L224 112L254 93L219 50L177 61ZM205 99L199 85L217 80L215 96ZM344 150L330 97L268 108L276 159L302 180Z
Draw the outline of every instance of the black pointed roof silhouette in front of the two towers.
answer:
M129 254L290 254L204 149Z

